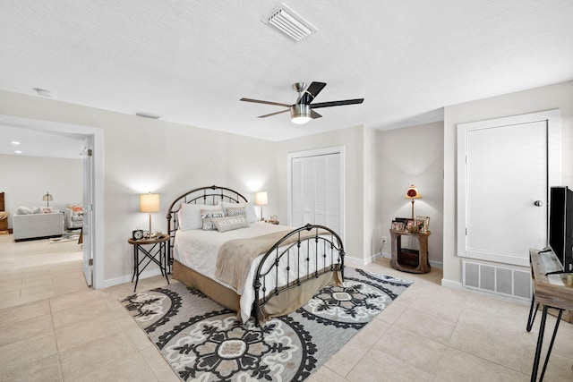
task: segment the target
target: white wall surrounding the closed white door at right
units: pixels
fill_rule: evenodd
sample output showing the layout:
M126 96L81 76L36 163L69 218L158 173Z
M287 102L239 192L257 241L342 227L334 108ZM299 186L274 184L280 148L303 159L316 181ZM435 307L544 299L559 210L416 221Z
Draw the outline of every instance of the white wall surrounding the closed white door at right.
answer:
M461 261L456 256L456 184L457 125L560 109L561 113L561 179L573 186L573 81L542 88L528 89L495 98L486 98L454 106L444 113L444 273L443 284L461 283Z

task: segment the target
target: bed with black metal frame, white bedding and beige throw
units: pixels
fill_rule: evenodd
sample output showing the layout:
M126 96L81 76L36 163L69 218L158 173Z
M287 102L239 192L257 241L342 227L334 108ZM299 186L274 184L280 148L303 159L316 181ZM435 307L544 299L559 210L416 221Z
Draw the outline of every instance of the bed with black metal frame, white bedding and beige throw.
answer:
M173 278L235 310L243 322L254 318L257 326L300 308L344 277L337 233L323 225L258 221L252 204L226 187L201 187L176 198L167 231Z

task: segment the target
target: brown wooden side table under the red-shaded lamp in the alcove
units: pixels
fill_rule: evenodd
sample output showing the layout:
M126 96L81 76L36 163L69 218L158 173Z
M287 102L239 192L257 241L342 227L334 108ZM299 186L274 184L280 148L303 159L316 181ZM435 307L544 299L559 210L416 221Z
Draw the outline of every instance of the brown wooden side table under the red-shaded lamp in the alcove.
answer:
M402 236L413 236L419 244L420 250L405 252L402 250ZM428 261L428 236L430 231L410 233L390 229L392 239L392 259L390 267L410 273L428 273L432 270Z

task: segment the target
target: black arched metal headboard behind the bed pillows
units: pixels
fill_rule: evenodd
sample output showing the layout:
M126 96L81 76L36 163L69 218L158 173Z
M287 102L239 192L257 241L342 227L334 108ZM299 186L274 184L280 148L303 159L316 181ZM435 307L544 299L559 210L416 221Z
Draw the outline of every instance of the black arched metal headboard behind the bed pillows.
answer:
M226 201L227 203L244 203L248 200L235 190L227 187L208 186L201 187L192 191L187 191L178 198L175 198L173 203L167 210L167 233L171 235L169 245L167 246L168 264L173 264L172 250L175 243L175 234L179 229L179 221L177 220L177 212L181 209L183 204L208 204L217 205L219 201Z

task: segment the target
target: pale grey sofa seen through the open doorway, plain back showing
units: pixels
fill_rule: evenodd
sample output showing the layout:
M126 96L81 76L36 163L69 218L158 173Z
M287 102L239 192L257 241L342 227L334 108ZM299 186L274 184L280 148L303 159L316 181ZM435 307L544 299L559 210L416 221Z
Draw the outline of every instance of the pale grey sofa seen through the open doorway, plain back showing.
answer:
M64 234L64 214L60 211L12 216L14 242L59 237Z

